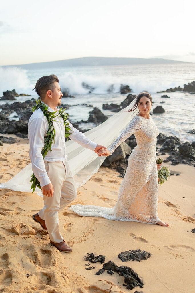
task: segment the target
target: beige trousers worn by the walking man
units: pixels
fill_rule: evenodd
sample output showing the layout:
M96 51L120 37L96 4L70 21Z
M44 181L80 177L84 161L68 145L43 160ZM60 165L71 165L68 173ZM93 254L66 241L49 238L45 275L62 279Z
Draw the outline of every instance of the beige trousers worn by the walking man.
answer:
M77 197L77 190L67 160L44 163L54 193L52 197L43 195L44 208L38 214L45 221L51 241L59 243L63 237L59 232L58 212Z

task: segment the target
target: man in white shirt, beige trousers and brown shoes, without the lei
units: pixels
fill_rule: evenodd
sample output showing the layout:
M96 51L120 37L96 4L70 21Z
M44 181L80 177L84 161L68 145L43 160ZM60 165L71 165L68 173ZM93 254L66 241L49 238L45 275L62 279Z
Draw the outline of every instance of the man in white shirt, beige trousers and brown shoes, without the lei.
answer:
M38 79L35 91L42 102L48 106L49 112L59 111L57 106L61 105L63 94L56 75L43 76ZM32 171L40 181L44 200L44 208L34 214L32 218L48 231L52 245L59 251L70 252L72 248L65 243L59 232L58 212L77 197L77 191L73 174L67 162L64 121L59 115L54 120L55 141L51 145L51 151L47 152L44 159L41 151L49 127L47 119L39 108L33 112L28 122L29 155L32 162ZM105 148L90 141L70 123L69 127L71 130L69 138L83 147L96 153L101 148Z

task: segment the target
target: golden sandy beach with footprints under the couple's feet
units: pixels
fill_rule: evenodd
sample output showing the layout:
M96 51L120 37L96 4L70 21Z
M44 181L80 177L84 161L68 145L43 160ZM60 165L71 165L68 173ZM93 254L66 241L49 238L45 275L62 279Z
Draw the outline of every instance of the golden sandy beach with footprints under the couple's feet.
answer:
M0 183L30 163L28 151L27 139L0 146ZM32 215L43 207L42 197L0 189L0 292L194 292L195 168L163 165L175 174L159 186L158 216L169 227L79 217L67 208L59 214L59 223L65 241L73 247L71 253L51 246L46 231L33 221ZM77 189L74 204L114 207L121 182L119 173L101 167ZM151 257L140 262L118 258L120 252L135 249ZM87 253L105 255L105 262L132 268L143 288L126 289L124 277L116 272L95 275L103 266L100 262L90 263L95 269L85 270Z

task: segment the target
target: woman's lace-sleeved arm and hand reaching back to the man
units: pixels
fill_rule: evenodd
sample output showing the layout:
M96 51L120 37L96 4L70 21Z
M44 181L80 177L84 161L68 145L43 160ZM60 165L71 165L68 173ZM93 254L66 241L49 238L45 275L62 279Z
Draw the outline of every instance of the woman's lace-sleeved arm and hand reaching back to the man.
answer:
M99 155L101 154L104 154L105 156L111 155L113 151L118 146L120 146L120 144L122 144L122 142L124 142L128 137L138 132L139 130L141 130L141 118L139 116L136 116L108 149L103 149L99 151Z

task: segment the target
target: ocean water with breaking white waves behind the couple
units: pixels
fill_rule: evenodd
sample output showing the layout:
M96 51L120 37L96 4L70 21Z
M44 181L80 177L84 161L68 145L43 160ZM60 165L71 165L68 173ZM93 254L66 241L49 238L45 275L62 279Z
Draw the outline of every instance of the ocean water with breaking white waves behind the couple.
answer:
M103 103L121 103L127 95L119 93L120 85L129 85L133 94L146 90L152 94L153 108L162 105L163 114L153 114L153 120L160 132L166 135L179 137L184 141L195 141L195 135L189 130L195 129L195 95L189 93L167 93L170 98L161 98L157 91L181 86L195 80L195 64L151 64L126 66L88 66L48 68L25 70L17 67L0 67L0 96L3 91L15 88L18 93L31 94L37 98L34 88L37 79L41 76L56 74L61 88L68 90L75 98L62 98L63 104L70 105L67 110L71 121L87 120L89 111L93 107L102 110ZM82 82L94 88L92 93L83 88ZM108 89L112 88L111 92ZM31 97L18 97L18 101L29 100ZM161 101L165 103L161 104ZM0 101L1 104L6 101ZM9 103L13 103L10 101ZM151 112L152 112L151 111ZM105 115L114 115L113 112L102 110ZM17 119L12 114L10 119ZM82 128L92 128L93 124L82 124Z

